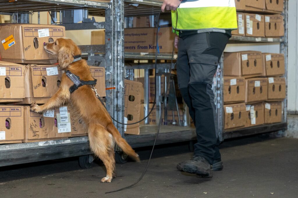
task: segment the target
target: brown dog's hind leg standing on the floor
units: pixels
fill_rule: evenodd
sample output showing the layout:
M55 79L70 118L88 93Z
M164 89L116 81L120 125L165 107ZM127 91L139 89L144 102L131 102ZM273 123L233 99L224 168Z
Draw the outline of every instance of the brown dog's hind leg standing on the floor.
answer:
M96 123L89 124L88 136L91 151L103 161L107 170L107 175L101 179L101 182L111 182L115 172L113 139L102 125Z

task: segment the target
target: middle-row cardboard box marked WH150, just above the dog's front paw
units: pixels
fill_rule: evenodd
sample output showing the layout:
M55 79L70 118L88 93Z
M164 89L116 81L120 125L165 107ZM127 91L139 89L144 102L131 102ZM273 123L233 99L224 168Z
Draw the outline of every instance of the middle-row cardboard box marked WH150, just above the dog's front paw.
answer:
M57 67L58 75L47 75L47 69ZM58 65L25 66L25 98L20 104L46 103L59 89L61 69Z

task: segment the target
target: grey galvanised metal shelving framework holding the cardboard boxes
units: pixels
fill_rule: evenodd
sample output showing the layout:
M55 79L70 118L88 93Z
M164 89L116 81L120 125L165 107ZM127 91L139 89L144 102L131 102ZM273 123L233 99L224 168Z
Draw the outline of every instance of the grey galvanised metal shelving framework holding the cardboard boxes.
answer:
M106 87L112 88L107 90L105 102L109 113L117 120L124 121L124 86L125 71L132 69L145 69L145 82L149 85L149 69L154 68L154 64L125 64L124 58L135 60L152 60L152 53L124 53L124 16L140 16L140 15L155 15L158 14L162 1L160 0L18 0L11 5L7 0L0 0L0 12L3 14L14 14L18 22L24 23L26 17L24 13L31 11L60 11L73 9L86 9L87 16L100 15L105 16L105 22L85 22L61 24L66 27L66 30L78 29L102 29L105 28L105 45L83 45L80 46L83 53L88 53L88 63L95 66L104 66L106 70ZM130 4L138 4L137 7ZM285 65L287 66L287 20L288 20L288 1L285 1L285 37L283 38L255 38L255 37L236 37L230 39L231 43L256 43L269 42L280 43L280 51L285 54ZM105 53L98 55L94 53ZM159 54L158 59L171 59L170 54ZM168 69L169 63L159 63L160 70ZM241 137L252 134L265 132L273 132L284 130L287 127L287 100L284 104L284 116L282 123L254 126L245 129L232 131L224 131L223 129L223 58L221 59L220 69L217 72L216 85L216 104L218 107L219 131L221 141L228 138ZM286 70L287 71L287 70ZM285 75L286 77L286 75ZM147 88L146 88L147 87ZM147 91L146 91L147 90ZM160 92L158 90L158 92ZM147 96L146 96L147 93ZM145 103L148 103L148 86L145 86ZM160 103L157 104L160 107ZM146 113L145 113L146 114ZM158 115L158 111L156 113ZM136 147L144 147L153 145L156 135L157 126L143 125L140 126L140 135L125 135L124 126L115 123L122 137L128 143ZM172 142L182 142L196 140L195 129L185 126L162 126L157 144L166 144ZM119 148L116 148L119 151ZM89 150L88 137L73 137L65 140L51 140L45 142L32 142L22 144L0 145L0 167L22 164L35 161L44 161L50 159L59 159L72 156L83 156L91 154Z

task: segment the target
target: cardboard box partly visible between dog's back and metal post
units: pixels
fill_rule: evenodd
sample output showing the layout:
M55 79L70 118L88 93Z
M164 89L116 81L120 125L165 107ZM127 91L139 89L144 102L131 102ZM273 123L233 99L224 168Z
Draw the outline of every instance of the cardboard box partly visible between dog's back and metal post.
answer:
M105 68L97 66L89 66L92 77L97 79L95 88L100 97L105 97Z

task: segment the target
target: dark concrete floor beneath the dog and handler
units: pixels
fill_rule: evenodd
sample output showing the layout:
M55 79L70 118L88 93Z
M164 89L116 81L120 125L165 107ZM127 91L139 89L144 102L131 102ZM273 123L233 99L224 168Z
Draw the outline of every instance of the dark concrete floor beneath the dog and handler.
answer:
M133 183L148 162L117 164L117 178L100 183L105 168L98 162L80 169L77 158L0 168L0 197L297 197L298 139L249 137L221 145L224 170L212 179L181 173L176 164L192 156L185 143L158 146L143 180L134 188L104 194ZM271 194L274 193L274 194Z

